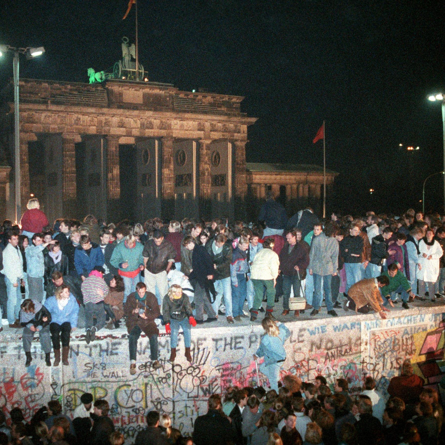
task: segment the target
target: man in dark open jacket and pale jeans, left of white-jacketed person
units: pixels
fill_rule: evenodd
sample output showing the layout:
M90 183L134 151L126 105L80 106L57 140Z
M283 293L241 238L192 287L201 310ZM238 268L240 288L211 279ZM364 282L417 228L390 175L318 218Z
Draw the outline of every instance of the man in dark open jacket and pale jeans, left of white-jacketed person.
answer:
M212 242L206 243L207 252L210 254L214 267L215 301L213 310L218 316L219 305L224 296L226 306L226 318L228 323L233 323L232 313L232 285L230 278L230 264L232 262L232 247L227 243L227 236L219 233Z

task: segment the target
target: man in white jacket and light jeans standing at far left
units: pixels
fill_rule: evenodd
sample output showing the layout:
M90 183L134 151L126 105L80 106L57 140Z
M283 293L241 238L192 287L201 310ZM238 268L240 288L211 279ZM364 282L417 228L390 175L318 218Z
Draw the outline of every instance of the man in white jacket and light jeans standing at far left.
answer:
M23 258L18 248L19 235L10 232L8 235L8 245L3 251L3 269L6 290L8 292L7 316L10 328L21 328L19 323L20 303L22 295L20 284L23 284Z

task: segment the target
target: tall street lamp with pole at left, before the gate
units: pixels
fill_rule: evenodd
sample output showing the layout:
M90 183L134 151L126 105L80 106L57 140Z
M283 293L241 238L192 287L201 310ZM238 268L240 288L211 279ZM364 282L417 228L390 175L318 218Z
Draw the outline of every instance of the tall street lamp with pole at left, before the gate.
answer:
M16 189L16 224L18 224L22 214L20 194L19 55L25 54L26 58L32 59L41 56L45 52L45 49L43 46L38 48L14 48L9 45L0 45L0 57L7 52L14 53L14 177Z

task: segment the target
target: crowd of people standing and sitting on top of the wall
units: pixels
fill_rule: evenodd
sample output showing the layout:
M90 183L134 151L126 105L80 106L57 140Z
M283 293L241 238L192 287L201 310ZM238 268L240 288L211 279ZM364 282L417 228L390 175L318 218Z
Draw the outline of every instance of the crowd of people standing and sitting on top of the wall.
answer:
M306 208L287 219L268 196L255 223L152 218L142 226L93 215L49 224L36 198L27 207L21 227L4 220L0 233L0 311L5 327L23 328L27 366L36 332L46 364L53 350L53 366L67 365L71 332L85 330L88 344L125 323L133 374L142 332L158 368L159 329L171 335L174 361L182 328L191 361L190 329L220 318L241 324L275 312L295 320L319 314L323 301L328 316L351 310L386 318L389 307L445 296L438 214L333 212L322 220ZM301 297L304 308L291 311L290 299Z

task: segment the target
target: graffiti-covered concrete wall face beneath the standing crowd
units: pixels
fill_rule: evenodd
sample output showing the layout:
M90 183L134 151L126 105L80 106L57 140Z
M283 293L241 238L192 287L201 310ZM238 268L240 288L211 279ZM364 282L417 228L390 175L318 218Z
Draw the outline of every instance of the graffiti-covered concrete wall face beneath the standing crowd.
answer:
M440 388L445 371L445 314L439 309L393 312L394 318L388 320L370 315L290 322L283 374L298 375L303 381L321 374L329 384L346 377L352 392L358 392L363 377L371 375L377 388L386 393L389 379L398 375L402 361L409 357L425 385ZM132 443L152 409L169 413L175 427L191 433L196 417L207 411L210 394L222 393L231 384L257 384L252 355L263 333L261 326L193 328L191 365L183 356L182 336L173 365L167 361L170 337L160 336L162 368L156 371L151 367L149 342L141 338L134 376L129 374L126 335L115 332L89 345L73 339L70 365L57 368L45 366L38 341L32 345L32 364L25 368L19 337L1 336L1 409L19 406L29 420L42 404L60 399L70 415L80 404L81 394L92 392L95 399L109 401L116 428ZM259 381L265 383L261 375Z

